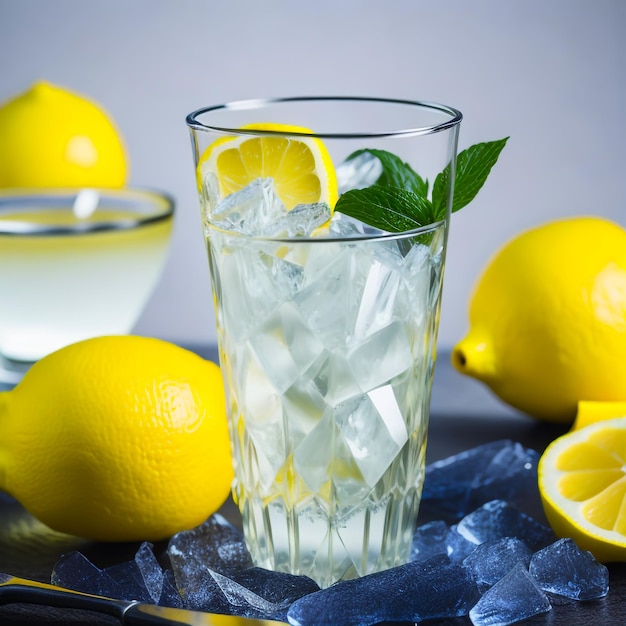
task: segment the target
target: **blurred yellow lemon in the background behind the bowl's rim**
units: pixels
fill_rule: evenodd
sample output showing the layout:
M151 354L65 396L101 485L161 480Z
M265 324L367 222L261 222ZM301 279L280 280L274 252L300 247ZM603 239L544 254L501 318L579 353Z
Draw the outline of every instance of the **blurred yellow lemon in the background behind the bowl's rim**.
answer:
M96 103L47 82L0 106L0 187L120 188L120 133Z

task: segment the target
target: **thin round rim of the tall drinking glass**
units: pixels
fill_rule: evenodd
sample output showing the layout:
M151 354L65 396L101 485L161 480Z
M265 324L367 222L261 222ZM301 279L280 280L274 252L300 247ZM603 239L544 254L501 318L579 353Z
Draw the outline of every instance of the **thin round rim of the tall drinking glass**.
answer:
M433 111L439 111L446 113L450 116L450 119L440 122L438 124L432 124L429 126L418 126L413 128L405 128L394 131L384 132L364 132L364 133L317 133L317 132L298 132L298 131L276 131L276 130L260 130L260 129L243 129L243 128L229 128L227 126L216 126L205 124L199 121L199 117L212 111L242 111L242 110L254 110L262 107L266 107L273 104L284 104L289 102L369 102L379 104L402 104L407 106L418 107L422 109L430 109ZM437 102L430 102L427 100L403 100L395 98L380 98L370 96L292 96L292 97L280 97L280 98L258 98L249 100L233 100L223 104L216 104L211 106L201 107L189 113L185 121L189 128L198 131L213 131L219 133L228 133L236 135L279 135L279 136L291 136L291 137L318 137L320 139L370 139L370 138L382 138L382 137L414 137L418 135L432 135L449 128L458 126L463 120L463 114L451 106L440 104Z

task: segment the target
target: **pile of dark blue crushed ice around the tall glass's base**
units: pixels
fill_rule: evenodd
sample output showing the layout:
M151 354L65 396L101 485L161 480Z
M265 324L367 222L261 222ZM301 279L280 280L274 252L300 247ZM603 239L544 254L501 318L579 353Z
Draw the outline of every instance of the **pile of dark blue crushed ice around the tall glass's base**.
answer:
M254 567L242 533L218 514L174 535L162 554L144 542L134 560L105 569L79 552L63 555L51 580L86 593L293 626L459 616L474 626L513 624L568 601L597 600L609 589L608 569L589 552L501 499L527 501L536 456L503 440L429 465L424 497L430 515L441 505L441 519L418 526L409 563L327 589L306 576ZM504 470L508 488L499 477ZM520 480L523 488L511 485ZM467 511L479 491L485 501Z

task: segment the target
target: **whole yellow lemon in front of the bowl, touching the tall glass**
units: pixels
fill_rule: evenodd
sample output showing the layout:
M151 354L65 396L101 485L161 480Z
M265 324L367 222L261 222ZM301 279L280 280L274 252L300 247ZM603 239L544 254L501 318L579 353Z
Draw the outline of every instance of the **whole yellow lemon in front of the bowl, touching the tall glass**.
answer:
M206 520L232 478L219 367L171 343L88 339L0 394L0 489L57 531L158 541Z

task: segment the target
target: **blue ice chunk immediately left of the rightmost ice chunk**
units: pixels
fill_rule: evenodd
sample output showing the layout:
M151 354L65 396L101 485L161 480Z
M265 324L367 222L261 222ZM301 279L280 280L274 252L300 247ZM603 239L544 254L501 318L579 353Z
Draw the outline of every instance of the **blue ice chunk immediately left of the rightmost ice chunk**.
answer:
M478 588L484 591L508 574L518 563L528 568L531 550L515 537L486 541L476 546L463 565L474 574Z

